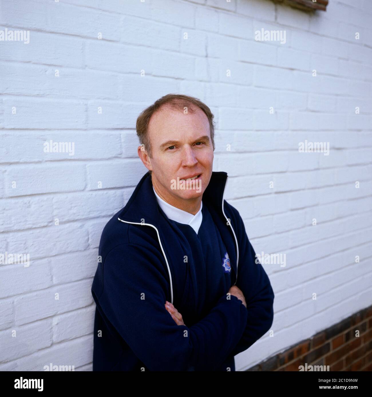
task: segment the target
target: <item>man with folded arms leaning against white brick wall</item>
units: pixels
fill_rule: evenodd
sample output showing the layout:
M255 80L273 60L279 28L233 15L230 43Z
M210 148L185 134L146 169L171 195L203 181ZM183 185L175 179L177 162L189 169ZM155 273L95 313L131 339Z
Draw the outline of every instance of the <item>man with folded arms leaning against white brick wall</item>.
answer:
M149 171L102 232L93 370L235 371L272 325L274 292L212 172L213 114L169 94L136 127Z

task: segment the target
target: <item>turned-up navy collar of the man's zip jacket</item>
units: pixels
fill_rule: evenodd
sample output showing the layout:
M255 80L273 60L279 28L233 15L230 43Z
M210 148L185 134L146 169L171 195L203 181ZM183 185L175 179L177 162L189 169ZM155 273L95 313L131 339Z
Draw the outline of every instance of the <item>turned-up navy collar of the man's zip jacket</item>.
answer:
M222 200L226 181L226 172L213 171L202 198L204 204L214 207L216 212L221 214L223 214ZM150 172L146 172L136 186L127 204L120 212L119 218L123 221L133 223L141 223L141 220L144 219L145 223L158 225L160 216L158 202L152 189L151 174Z

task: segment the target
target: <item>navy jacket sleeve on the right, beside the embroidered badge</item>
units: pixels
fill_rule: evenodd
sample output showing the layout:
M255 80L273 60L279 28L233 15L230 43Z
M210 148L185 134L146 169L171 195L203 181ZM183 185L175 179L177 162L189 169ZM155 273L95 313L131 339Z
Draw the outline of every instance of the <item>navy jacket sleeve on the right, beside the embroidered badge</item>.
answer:
M243 292L248 310L245 330L231 353L237 355L252 346L272 326L274 291L264 268L258 259L256 260L256 254L247 237L239 212L232 206L229 207L234 214L235 225L232 223L234 218L231 220L231 225L234 227L239 244L239 264L235 285Z

